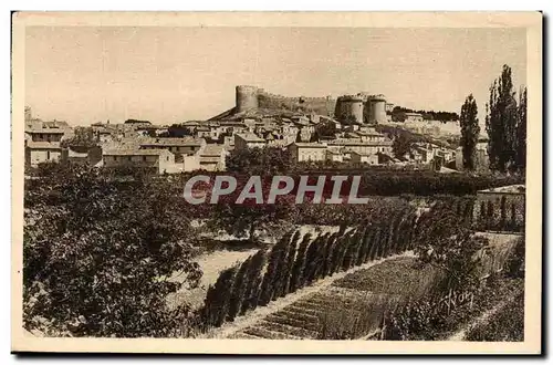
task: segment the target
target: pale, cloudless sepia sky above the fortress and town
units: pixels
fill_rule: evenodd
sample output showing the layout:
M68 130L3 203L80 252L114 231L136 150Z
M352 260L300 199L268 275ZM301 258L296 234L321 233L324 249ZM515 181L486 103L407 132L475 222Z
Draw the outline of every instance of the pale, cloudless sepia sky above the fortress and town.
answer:
M382 93L410 108L483 119L503 64L525 84L524 29L27 29L25 104L73 125L109 118L171 124L234 105L234 86L288 96Z

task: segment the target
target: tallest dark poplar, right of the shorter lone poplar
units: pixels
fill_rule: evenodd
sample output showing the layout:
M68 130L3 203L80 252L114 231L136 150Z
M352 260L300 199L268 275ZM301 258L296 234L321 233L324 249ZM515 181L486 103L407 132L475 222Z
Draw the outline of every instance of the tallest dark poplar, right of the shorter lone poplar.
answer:
M511 67L503 65L500 77L490 86L486 116L490 168L500 173L515 168L518 108L514 96Z

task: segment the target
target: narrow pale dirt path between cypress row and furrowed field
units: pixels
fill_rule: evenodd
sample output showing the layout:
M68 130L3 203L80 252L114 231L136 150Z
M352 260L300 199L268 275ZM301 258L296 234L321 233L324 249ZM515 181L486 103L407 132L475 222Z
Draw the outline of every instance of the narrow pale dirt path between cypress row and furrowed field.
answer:
M258 321L262 321L268 315L273 314L273 313L282 310L283 307L301 300L302 298L310 295L310 294L314 294L314 293L321 291L322 289L328 288L330 285L332 285L332 283L334 281L342 279L347 274L351 274L351 273L356 272L358 270L368 269L368 268L371 268L373 265L377 265L384 261L394 260L394 259L398 259L398 258L407 258L407 257L415 257L415 254L411 251L407 251L407 252L404 252L401 254L395 254L395 255L387 257L385 259L371 261L368 263L365 263L365 264L359 265L359 267L355 267L355 268L349 269L347 271L335 273L332 277L321 279L321 280L316 281L313 285L303 288L294 293L288 294L286 296L282 298L282 299L279 299L276 301L269 303L267 306L258 306L254 311L248 313L247 315L237 317L234 320L234 322L225 323L222 326L208 332L202 337L204 338L206 338L206 337L207 338L226 338L226 337L232 336L236 332L239 332L239 331L244 330L251 325L254 325Z

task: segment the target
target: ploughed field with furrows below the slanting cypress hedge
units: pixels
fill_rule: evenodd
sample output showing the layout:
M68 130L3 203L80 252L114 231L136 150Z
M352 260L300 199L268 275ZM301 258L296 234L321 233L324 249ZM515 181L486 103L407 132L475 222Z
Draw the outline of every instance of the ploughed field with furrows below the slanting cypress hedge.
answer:
M229 337L361 337L378 328L386 310L394 309L409 295L421 295L427 291L432 279L436 279L436 271L420 268L413 258L389 260L336 280L322 291L304 296Z

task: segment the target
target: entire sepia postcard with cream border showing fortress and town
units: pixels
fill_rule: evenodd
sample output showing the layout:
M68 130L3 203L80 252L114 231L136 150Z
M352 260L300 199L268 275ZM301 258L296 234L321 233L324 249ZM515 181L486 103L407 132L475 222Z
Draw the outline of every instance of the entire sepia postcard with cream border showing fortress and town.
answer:
M12 352L540 354L542 21L14 12Z

